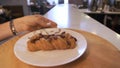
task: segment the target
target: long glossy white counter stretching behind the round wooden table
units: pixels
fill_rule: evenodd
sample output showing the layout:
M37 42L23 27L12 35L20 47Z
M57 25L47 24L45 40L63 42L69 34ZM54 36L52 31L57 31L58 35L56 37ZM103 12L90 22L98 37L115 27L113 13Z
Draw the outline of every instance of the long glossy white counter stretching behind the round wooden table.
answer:
M72 28L90 32L111 42L120 50L120 35L70 4L56 5L44 15L55 21L59 28Z

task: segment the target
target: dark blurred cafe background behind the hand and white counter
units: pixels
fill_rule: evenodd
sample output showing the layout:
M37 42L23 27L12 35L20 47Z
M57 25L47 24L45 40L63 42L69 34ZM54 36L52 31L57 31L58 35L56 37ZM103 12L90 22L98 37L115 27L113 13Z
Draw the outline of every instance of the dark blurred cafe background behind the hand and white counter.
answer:
M57 4L72 4L120 33L120 0L0 0L0 23L31 14L46 14ZM88 10L88 11L86 11ZM105 13L105 12L112 13Z

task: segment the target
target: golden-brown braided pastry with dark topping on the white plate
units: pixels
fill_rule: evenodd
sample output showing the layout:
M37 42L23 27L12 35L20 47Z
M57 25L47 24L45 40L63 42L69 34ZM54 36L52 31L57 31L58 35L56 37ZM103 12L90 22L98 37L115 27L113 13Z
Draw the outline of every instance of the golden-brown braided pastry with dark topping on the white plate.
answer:
M44 35L42 33L32 36L27 41L27 48L29 51L39 50L65 50L76 47L77 39L66 32L56 32L54 34Z

